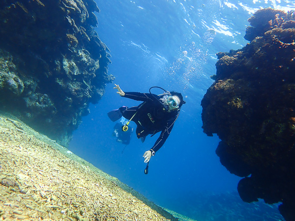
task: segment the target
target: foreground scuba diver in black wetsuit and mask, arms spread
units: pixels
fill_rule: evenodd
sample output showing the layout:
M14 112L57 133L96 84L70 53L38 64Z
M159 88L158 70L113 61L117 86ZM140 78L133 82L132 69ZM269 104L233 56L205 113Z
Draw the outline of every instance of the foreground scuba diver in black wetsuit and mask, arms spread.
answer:
M108 116L112 121L118 120L121 116L129 120L122 126L123 131L128 130L128 124L131 120L134 121L137 125L137 138L141 138L142 142L145 141L149 134L152 137L161 131L160 137L156 140L152 148L144 153L145 163L148 163L151 156L154 156L163 146L179 116L181 106L185 104L181 93L175 91L169 92L161 87L157 87L165 92L156 95L150 92L151 88L149 88L149 93L124 92L119 85L115 84L114 89L118 89L117 93L121 97L143 101L143 103L131 108L122 106L119 109L108 112ZM145 171L145 173L147 174L148 171Z

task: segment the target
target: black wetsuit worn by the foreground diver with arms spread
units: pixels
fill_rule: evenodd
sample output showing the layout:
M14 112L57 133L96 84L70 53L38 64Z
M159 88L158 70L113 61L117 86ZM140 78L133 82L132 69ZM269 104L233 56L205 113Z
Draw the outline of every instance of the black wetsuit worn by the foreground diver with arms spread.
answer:
M131 119L137 125L136 135L138 138L145 138L147 135L152 136L161 131L153 147L153 151L159 150L171 133L174 122L176 121L179 111L168 112L159 102L161 96L150 93L125 92L123 97L130 98L144 103L136 107L121 107L120 111L126 119Z

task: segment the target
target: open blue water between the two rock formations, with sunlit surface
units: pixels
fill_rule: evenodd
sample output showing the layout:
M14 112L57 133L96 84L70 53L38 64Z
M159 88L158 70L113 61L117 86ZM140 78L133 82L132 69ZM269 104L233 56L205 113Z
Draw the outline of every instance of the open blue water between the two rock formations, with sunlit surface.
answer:
M158 134L144 143L134 135L129 145L112 137L114 122L107 112L140 102L120 97L108 84L100 102L73 134L69 149L117 177L156 204L199 220L213 216L213 204L224 220L262 219L277 205L244 203L237 196L240 179L223 167L215 154L217 136L202 131L200 106L213 83L217 52L246 45L247 19L263 7L295 9L288 0L96 0L100 39L112 55L109 74L122 90L148 92L151 86L181 92L185 97L180 115L164 146L152 157L148 175L142 157ZM160 90L155 89L155 93ZM130 123L135 128L135 125ZM228 198L228 201L227 201ZM211 201L208 199L212 199ZM219 201L220 200L220 201ZM231 202L230 202L231 201ZM231 203L235 202L235 209ZM202 208L201 204L203 202ZM238 206L237 206L238 205ZM242 211L241 208L249 210ZM269 212L269 210L271 210ZM252 212L249 212L252 211ZM255 212L253 212L255 211ZM206 214L212 214L212 217ZM247 215L248 213L248 215ZM249 214L251 213L251 214ZM239 219L236 214L240 214ZM278 215L273 220L281 219Z

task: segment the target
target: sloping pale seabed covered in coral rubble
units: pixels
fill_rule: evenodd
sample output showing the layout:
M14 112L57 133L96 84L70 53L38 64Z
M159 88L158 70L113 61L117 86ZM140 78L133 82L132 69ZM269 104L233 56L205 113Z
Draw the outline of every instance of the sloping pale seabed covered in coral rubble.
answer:
M0 220L190 220L169 212L0 112Z

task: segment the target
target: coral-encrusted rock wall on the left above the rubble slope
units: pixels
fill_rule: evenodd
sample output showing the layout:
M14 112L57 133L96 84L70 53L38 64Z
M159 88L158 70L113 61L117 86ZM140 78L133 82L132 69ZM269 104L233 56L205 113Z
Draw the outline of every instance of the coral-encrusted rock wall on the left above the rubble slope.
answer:
M114 80L95 11L94 0L0 1L0 110L64 146Z

